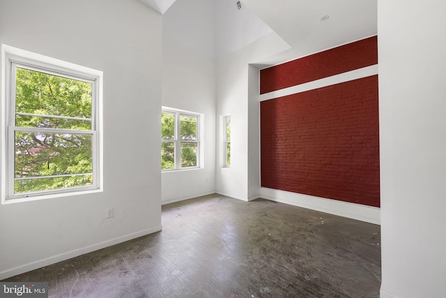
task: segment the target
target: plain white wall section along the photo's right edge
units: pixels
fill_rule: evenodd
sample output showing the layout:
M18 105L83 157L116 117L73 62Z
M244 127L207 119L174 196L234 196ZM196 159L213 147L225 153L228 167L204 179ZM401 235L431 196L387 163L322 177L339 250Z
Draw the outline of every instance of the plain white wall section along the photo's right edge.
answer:
M378 1L380 297L446 297L446 3Z

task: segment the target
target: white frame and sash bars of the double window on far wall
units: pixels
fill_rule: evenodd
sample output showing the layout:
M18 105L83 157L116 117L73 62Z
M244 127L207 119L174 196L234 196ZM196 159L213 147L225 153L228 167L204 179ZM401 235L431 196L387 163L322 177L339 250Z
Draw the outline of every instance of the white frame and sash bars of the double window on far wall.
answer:
M202 156L202 122L203 114L192 111L185 111L180 109L174 109L169 107L162 107L161 113L173 113L174 114L174 139L162 139L162 143L174 143L174 168L161 168L162 172L171 171L188 171L199 169L203 167ZM197 117L197 140L185 141L180 139L180 117ZM181 144L182 143L197 143L197 166L181 166Z

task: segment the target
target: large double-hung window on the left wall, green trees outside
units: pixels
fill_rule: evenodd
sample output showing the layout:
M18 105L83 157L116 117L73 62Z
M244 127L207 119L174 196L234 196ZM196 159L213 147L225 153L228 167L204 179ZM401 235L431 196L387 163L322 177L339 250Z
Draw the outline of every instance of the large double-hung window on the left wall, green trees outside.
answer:
M6 197L98 189L102 74L6 56Z

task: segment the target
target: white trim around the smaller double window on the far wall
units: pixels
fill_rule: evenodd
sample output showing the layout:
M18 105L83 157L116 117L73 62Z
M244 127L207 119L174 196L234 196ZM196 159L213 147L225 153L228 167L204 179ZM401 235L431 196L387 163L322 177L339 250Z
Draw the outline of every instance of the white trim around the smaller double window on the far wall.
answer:
M174 113L175 115L175 136L174 140L161 140L162 142L174 142L174 158L175 158L175 167L167 168L165 170L161 170L162 173L167 172L178 172L178 171L190 171L197 170L204 167L204 155L203 155L203 123L204 123L204 114L197 113L193 111L186 111L182 109L175 109L171 107L161 107L161 113ZM181 141L179 138L180 133L180 116L193 116L197 117L197 141L191 141L192 143L197 142L197 166L181 166L181 154L178 152L181 148Z

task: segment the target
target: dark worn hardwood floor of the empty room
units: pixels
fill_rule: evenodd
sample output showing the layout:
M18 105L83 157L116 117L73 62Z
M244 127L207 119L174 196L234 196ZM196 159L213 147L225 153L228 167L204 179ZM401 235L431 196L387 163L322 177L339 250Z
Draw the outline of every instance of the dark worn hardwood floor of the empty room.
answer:
M5 281L49 297L379 297L380 226L220 195L164 205L163 230Z

